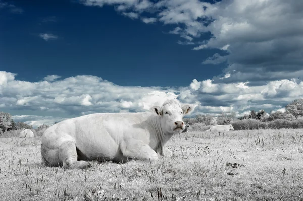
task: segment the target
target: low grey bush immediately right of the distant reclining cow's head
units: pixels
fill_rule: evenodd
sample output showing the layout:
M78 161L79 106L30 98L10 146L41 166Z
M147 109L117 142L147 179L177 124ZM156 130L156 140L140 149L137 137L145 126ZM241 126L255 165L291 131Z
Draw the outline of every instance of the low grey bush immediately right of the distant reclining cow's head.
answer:
M243 119L231 123L234 130L255 130L267 128L267 124L256 119Z

